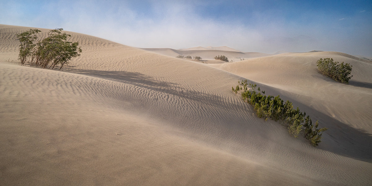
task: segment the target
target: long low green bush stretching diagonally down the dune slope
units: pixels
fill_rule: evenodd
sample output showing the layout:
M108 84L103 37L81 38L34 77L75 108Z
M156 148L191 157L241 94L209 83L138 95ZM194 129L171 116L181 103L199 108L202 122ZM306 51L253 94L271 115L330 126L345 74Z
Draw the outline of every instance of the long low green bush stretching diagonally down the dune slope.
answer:
M305 112L300 112L298 107L294 109L292 102L287 100L284 103L279 95L276 97L265 96L263 95L265 92L261 91L260 87L256 92L256 84L249 84L251 89L248 90L247 80L238 81L238 83L241 86L232 87L232 91L236 94L242 90L241 97L245 102L254 106L259 118L264 117L266 121L272 119L282 122L288 128L290 135L296 138L299 134L303 134L313 146L317 146L321 142L322 134L328 128L318 128L318 121L313 125L310 116L306 115Z

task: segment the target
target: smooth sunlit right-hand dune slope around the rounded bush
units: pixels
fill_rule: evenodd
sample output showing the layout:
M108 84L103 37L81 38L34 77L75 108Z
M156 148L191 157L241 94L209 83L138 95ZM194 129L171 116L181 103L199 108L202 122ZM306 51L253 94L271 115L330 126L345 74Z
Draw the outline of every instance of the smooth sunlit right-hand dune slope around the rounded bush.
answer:
M318 73L320 58L350 63L352 78L342 84ZM299 102L355 128L372 132L372 64L340 52L286 53L214 67L298 94Z

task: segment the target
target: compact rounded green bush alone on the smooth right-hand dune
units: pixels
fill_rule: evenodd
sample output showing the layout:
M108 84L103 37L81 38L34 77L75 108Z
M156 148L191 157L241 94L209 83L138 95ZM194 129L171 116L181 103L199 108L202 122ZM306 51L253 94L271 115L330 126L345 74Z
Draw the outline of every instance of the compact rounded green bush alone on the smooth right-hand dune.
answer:
M349 84L349 80L353 76L349 76L352 70L352 65L344 62L334 62L332 58L320 58L317 61L318 70L325 76L341 83Z

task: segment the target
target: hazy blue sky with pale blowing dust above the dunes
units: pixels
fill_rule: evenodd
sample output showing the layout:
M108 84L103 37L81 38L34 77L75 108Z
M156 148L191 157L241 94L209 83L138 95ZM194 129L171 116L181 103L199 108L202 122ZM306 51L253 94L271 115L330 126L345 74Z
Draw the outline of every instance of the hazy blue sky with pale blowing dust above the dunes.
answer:
M371 0L0 0L0 24L141 48L338 51L372 57Z

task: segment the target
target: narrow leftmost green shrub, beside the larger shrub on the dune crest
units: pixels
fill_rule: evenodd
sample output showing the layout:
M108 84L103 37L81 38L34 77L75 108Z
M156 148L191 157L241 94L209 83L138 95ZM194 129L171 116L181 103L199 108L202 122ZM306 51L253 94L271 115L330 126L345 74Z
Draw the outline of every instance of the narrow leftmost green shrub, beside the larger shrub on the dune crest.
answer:
M38 36L36 36L38 32L41 31L39 31L38 29L29 29L28 31L16 34L17 39L21 43L19 45L18 55L18 59L20 61L19 63L21 65L25 64L26 61L29 61L29 58L32 55L32 50L35 47L35 44L33 42L35 41L35 39L38 38Z

